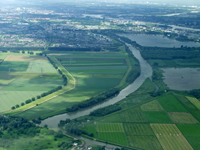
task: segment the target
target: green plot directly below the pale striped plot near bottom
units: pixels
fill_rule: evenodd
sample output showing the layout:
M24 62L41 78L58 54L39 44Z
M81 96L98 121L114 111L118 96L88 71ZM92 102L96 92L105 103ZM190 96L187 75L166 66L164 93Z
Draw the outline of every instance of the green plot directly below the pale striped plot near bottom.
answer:
M98 132L98 138L105 142L117 143L128 146L128 141L124 132Z

